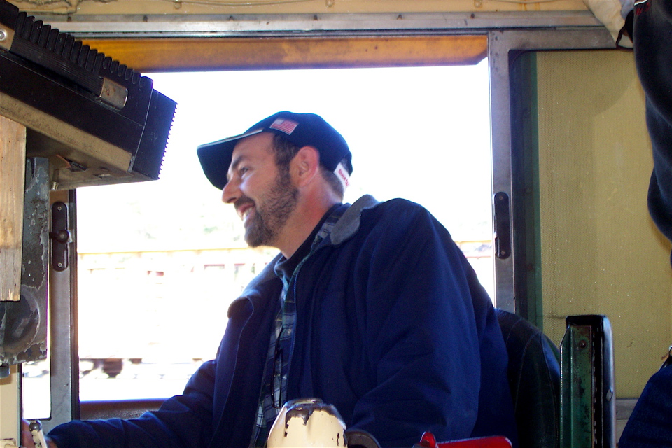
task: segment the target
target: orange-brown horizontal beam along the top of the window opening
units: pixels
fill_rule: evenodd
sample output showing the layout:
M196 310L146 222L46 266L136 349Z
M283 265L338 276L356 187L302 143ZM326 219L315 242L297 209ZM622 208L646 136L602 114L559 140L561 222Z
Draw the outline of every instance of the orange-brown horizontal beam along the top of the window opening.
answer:
M140 72L476 64L485 35L97 39L91 48Z

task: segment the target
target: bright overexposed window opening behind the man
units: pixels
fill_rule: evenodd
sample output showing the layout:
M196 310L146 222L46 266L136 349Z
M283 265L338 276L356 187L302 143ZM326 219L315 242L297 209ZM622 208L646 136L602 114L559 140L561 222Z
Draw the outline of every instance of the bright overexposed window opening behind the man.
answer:
M422 204L493 297L487 60L148 76L178 102L160 180L77 191L80 400L169 397L215 356L230 301L276 250L246 247L195 148L276 111L323 116L353 153L345 201Z

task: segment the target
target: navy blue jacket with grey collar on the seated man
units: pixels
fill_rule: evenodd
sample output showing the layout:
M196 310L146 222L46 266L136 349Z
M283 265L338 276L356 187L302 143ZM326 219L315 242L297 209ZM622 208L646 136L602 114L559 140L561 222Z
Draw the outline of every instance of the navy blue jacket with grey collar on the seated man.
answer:
M216 360L183 395L139 419L75 421L50 437L59 448L247 447L281 290L274 264L232 303ZM384 447L411 447L426 430L516 441L491 301L426 209L365 196L298 269L288 399L322 398Z

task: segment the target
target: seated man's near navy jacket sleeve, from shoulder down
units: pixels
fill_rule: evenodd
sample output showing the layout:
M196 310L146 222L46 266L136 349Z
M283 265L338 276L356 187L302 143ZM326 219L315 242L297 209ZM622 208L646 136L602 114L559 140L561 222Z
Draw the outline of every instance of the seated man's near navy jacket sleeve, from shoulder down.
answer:
M408 212L408 211L407 211ZM363 248L365 344L377 386L358 400L353 427L383 447L469 437L478 412L481 363L468 283L458 248L423 209Z

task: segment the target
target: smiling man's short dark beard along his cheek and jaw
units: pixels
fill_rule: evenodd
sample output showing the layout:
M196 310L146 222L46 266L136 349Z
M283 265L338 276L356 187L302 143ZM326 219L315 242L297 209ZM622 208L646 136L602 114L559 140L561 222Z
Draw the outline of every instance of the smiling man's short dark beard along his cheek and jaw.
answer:
M273 246L289 216L296 208L298 190L292 186L288 172L280 172L263 205L255 203L253 216L245 229L250 247Z

